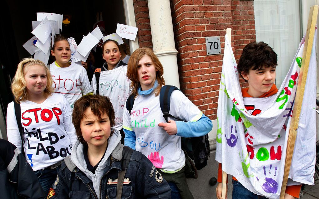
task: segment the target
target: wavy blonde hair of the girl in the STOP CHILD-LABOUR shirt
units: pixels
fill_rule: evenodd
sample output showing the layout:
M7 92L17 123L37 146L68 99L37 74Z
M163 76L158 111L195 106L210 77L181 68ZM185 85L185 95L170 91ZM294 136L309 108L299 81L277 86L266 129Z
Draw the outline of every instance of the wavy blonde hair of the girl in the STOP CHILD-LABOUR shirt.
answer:
M11 84L12 93L14 95L14 101L20 103L23 100L27 100L28 96L26 93L26 80L24 78L24 71L27 66L39 65L45 69L47 75L47 87L44 89L44 96L51 96L54 92L52 88L53 79L49 69L40 60L34 60L32 58L25 58L18 64L17 72L13 77L13 82Z

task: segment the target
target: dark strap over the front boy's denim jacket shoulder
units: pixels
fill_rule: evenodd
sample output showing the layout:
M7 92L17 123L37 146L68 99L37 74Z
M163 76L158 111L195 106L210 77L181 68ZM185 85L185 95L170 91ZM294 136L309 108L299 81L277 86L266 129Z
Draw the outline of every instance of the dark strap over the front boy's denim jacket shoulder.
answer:
M133 149L131 149L129 146L124 146L122 151L122 171L118 173L117 176L117 188L116 188L116 199L121 199L122 197L122 188L123 188L123 182L124 182L124 176L127 170L127 167L130 162L131 155L133 153Z

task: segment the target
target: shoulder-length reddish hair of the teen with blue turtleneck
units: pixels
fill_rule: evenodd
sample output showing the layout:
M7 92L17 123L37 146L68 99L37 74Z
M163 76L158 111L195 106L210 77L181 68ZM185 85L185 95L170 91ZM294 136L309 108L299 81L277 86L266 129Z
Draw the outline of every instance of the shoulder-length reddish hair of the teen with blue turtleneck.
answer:
M155 96L158 96L160 89L162 88L162 86L165 85L165 80L163 78L164 68L162 64L160 63L159 59L153 53L153 51L150 48L146 48L146 47L136 49L132 53L129 59L129 63L127 64L128 65L127 77L131 80L132 94L135 96L138 95L137 91L138 91L138 87L140 87L140 82L139 82L139 77L137 73L137 65L138 65L138 61L142 59L142 57L144 57L145 55L148 55L151 58L155 66L155 69L157 70L156 80L159 85L154 90L154 93L155 93Z

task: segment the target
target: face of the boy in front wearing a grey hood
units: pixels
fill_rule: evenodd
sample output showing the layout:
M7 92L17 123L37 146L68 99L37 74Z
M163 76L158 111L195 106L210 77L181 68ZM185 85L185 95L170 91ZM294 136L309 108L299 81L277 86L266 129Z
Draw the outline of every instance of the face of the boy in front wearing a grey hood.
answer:
M110 119L106 113L101 114L101 118L97 117L88 107L84 111L80 128L83 139L87 142L88 147L107 147L108 138L111 134Z

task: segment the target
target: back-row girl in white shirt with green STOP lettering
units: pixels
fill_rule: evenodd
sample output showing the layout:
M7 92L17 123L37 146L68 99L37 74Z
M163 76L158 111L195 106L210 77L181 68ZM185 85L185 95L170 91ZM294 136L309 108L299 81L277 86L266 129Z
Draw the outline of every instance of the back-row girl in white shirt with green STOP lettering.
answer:
M126 76L127 64L121 58L121 48L117 41L108 39L102 45L102 57L106 61L95 70L91 85L94 94L108 96L115 109L115 126L120 131L124 144L123 108L130 95L130 80Z

